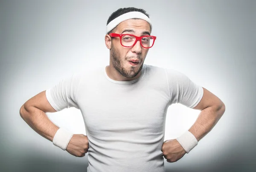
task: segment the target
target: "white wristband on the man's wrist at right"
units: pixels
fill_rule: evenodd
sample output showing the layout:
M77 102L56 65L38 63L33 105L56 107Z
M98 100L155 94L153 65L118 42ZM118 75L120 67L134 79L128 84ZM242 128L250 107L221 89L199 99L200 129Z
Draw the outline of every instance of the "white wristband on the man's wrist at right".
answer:
M189 153L191 149L193 149L197 144L198 141L195 136L190 133L188 130L183 133L180 137L176 138L180 145L185 149L186 153Z

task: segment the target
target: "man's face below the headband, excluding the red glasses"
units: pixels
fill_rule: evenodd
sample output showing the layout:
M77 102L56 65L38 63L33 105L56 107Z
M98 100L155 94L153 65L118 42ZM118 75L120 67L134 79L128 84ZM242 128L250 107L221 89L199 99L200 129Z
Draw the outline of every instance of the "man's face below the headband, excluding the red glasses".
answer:
M135 36L149 35L151 28L148 22L141 19L125 20L116 26L114 33L133 34ZM110 62L122 76L133 78L143 67L149 48L143 48L140 41L133 47L123 47L119 37L112 37L110 49ZM138 60L137 65L131 65L129 60Z

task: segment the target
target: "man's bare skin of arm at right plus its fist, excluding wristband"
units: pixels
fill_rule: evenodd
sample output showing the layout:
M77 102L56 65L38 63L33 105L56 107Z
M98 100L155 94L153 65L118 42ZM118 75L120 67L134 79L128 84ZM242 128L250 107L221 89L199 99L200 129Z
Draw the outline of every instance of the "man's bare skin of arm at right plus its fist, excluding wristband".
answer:
M224 103L204 87L203 89L204 95L201 101L193 108L201 110L201 112L195 123L189 129L189 132L195 136L197 141L212 130L225 112ZM171 139L164 142L162 152L166 161L170 163L178 161L186 154L185 149L183 149L177 139Z

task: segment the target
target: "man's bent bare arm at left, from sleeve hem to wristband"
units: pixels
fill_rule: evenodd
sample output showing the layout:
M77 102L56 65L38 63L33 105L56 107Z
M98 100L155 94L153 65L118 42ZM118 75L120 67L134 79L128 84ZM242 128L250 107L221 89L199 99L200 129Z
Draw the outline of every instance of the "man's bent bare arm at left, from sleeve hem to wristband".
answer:
M35 132L52 141L59 127L49 120L46 115L47 112L56 112L56 110L47 101L45 90L29 99L20 107L21 118Z

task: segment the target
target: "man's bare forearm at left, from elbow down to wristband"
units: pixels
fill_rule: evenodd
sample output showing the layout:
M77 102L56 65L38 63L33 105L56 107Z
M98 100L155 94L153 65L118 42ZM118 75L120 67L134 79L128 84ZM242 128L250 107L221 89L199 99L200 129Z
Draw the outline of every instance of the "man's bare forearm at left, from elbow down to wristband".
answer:
M36 107L23 105L20 108L20 116L35 132L49 141L53 140L55 133L59 129L49 120L44 111Z

